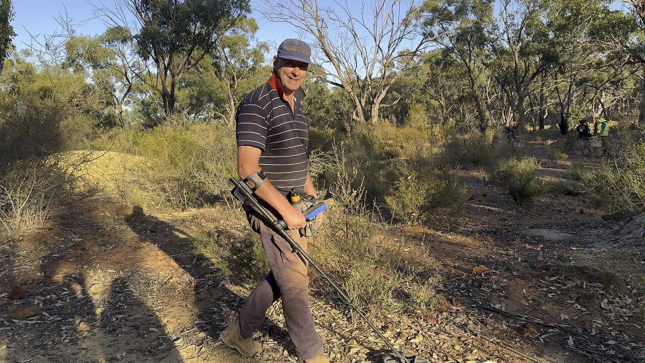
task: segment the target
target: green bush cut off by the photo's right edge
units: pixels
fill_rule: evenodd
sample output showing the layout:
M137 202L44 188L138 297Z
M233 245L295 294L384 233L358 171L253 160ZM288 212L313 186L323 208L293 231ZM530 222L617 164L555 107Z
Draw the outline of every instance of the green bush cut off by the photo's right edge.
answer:
M645 143L627 143L582 178L609 213L623 215L644 211Z

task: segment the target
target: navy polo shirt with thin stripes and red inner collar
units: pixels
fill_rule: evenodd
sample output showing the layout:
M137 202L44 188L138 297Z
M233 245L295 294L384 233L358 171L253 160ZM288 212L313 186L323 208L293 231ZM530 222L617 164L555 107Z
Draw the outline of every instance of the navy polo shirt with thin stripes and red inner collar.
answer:
M294 94L293 108L283 99L284 92L275 73L246 95L237 107L235 131L237 146L262 150L259 165L272 185L283 192L303 187L309 170L307 148L309 128L301 100L304 91Z

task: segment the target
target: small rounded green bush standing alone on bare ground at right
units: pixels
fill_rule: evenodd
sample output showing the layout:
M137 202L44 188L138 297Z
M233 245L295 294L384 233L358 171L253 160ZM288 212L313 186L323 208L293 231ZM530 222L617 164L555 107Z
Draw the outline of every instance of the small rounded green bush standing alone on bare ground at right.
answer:
M529 202L544 191L544 183L537 178L539 164L533 158L511 159L501 163L491 180L508 190L515 202Z

